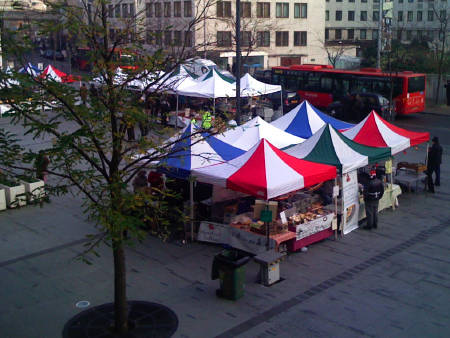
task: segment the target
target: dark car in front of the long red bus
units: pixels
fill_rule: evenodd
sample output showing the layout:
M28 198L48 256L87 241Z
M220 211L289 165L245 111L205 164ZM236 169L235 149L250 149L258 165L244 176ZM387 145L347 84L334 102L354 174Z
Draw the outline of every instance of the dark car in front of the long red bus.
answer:
M326 112L345 121L361 121L372 110L375 110L386 120L395 119L395 109L392 112L389 100L376 93L352 93L339 101L334 101L326 108Z

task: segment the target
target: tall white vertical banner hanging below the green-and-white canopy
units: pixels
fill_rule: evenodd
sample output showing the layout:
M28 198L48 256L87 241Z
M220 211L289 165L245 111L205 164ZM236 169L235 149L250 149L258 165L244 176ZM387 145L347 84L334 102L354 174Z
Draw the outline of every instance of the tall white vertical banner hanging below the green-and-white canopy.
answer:
M344 235L358 228L358 175L353 170L342 176L342 232Z

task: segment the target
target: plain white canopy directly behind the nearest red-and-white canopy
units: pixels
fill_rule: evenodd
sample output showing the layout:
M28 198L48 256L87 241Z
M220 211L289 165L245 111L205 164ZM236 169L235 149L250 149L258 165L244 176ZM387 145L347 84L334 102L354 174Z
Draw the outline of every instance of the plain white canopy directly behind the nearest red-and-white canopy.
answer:
M261 139L266 139L277 148L285 148L304 141L303 138L286 133L257 116L250 121L217 136L237 148L248 150Z

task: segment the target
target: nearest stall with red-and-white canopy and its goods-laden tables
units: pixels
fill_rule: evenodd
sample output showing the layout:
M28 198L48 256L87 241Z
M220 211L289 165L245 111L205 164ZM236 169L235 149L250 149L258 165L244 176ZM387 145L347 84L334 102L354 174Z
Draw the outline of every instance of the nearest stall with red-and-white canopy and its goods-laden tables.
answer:
M301 224L309 236L321 233L322 239L333 233L331 222L321 227L309 227L309 222L333 219L334 212L322 207L318 200L295 192L333 179L335 167L297 159L262 139L231 161L194 169L193 176L200 182L257 198L247 209L238 203L228 206L232 213L229 224L202 222L198 240L234 245L257 254L294 240L301 232Z

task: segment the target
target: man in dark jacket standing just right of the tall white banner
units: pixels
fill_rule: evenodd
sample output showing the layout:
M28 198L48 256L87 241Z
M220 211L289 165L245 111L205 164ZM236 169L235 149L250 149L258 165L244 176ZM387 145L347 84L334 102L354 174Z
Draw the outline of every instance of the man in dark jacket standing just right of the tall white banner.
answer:
M370 180L364 187L364 204L366 206L367 225L364 229L376 229L378 227L378 203L383 197L383 182L377 178L375 170L370 171Z

